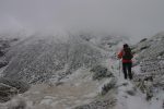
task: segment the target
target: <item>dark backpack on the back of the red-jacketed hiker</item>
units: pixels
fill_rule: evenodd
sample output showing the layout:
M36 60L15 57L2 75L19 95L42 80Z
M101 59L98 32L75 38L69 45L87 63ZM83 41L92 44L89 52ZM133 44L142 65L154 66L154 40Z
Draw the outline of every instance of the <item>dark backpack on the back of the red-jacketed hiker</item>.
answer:
M131 60L132 58L133 58L133 56L131 53L131 49L130 48L124 48L122 59Z

